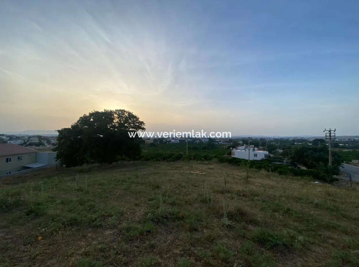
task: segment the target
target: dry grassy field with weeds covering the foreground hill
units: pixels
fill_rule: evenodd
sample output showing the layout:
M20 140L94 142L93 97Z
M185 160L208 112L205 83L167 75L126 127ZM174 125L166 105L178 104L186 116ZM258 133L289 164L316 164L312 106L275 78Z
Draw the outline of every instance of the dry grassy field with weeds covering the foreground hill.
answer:
M0 265L359 266L358 191L248 175L147 162L1 179Z

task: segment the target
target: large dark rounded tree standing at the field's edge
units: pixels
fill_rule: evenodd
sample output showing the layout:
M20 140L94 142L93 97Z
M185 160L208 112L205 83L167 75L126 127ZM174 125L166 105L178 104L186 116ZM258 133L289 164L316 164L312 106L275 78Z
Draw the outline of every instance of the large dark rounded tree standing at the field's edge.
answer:
M138 159L139 137L128 132L144 131L145 123L124 109L92 111L70 128L58 130L57 159L66 167L84 163L113 163L119 159Z

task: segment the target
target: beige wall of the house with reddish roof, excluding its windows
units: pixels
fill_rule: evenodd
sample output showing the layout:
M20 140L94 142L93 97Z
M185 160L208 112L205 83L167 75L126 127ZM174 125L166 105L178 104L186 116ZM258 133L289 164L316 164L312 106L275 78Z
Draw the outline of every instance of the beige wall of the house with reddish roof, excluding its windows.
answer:
M6 172L17 172L23 169L23 165L36 163L37 152L16 154L0 157L0 175L6 174ZM22 156L22 160L18 160L18 156ZM6 158L11 158L11 162L6 163Z

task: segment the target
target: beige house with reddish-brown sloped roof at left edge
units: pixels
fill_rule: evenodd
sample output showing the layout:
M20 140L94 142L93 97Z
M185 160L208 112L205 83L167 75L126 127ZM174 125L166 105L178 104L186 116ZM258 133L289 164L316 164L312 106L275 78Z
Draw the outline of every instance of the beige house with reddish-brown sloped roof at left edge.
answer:
M0 176L26 169L27 164L36 163L37 151L15 144L0 144Z

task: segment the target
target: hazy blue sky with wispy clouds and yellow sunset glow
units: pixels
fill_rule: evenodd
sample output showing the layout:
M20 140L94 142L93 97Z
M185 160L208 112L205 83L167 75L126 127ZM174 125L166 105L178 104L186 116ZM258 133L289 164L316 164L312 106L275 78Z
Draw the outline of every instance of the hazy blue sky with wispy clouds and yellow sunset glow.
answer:
M148 131L359 135L359 1L0 3L0 132L127 109Z

